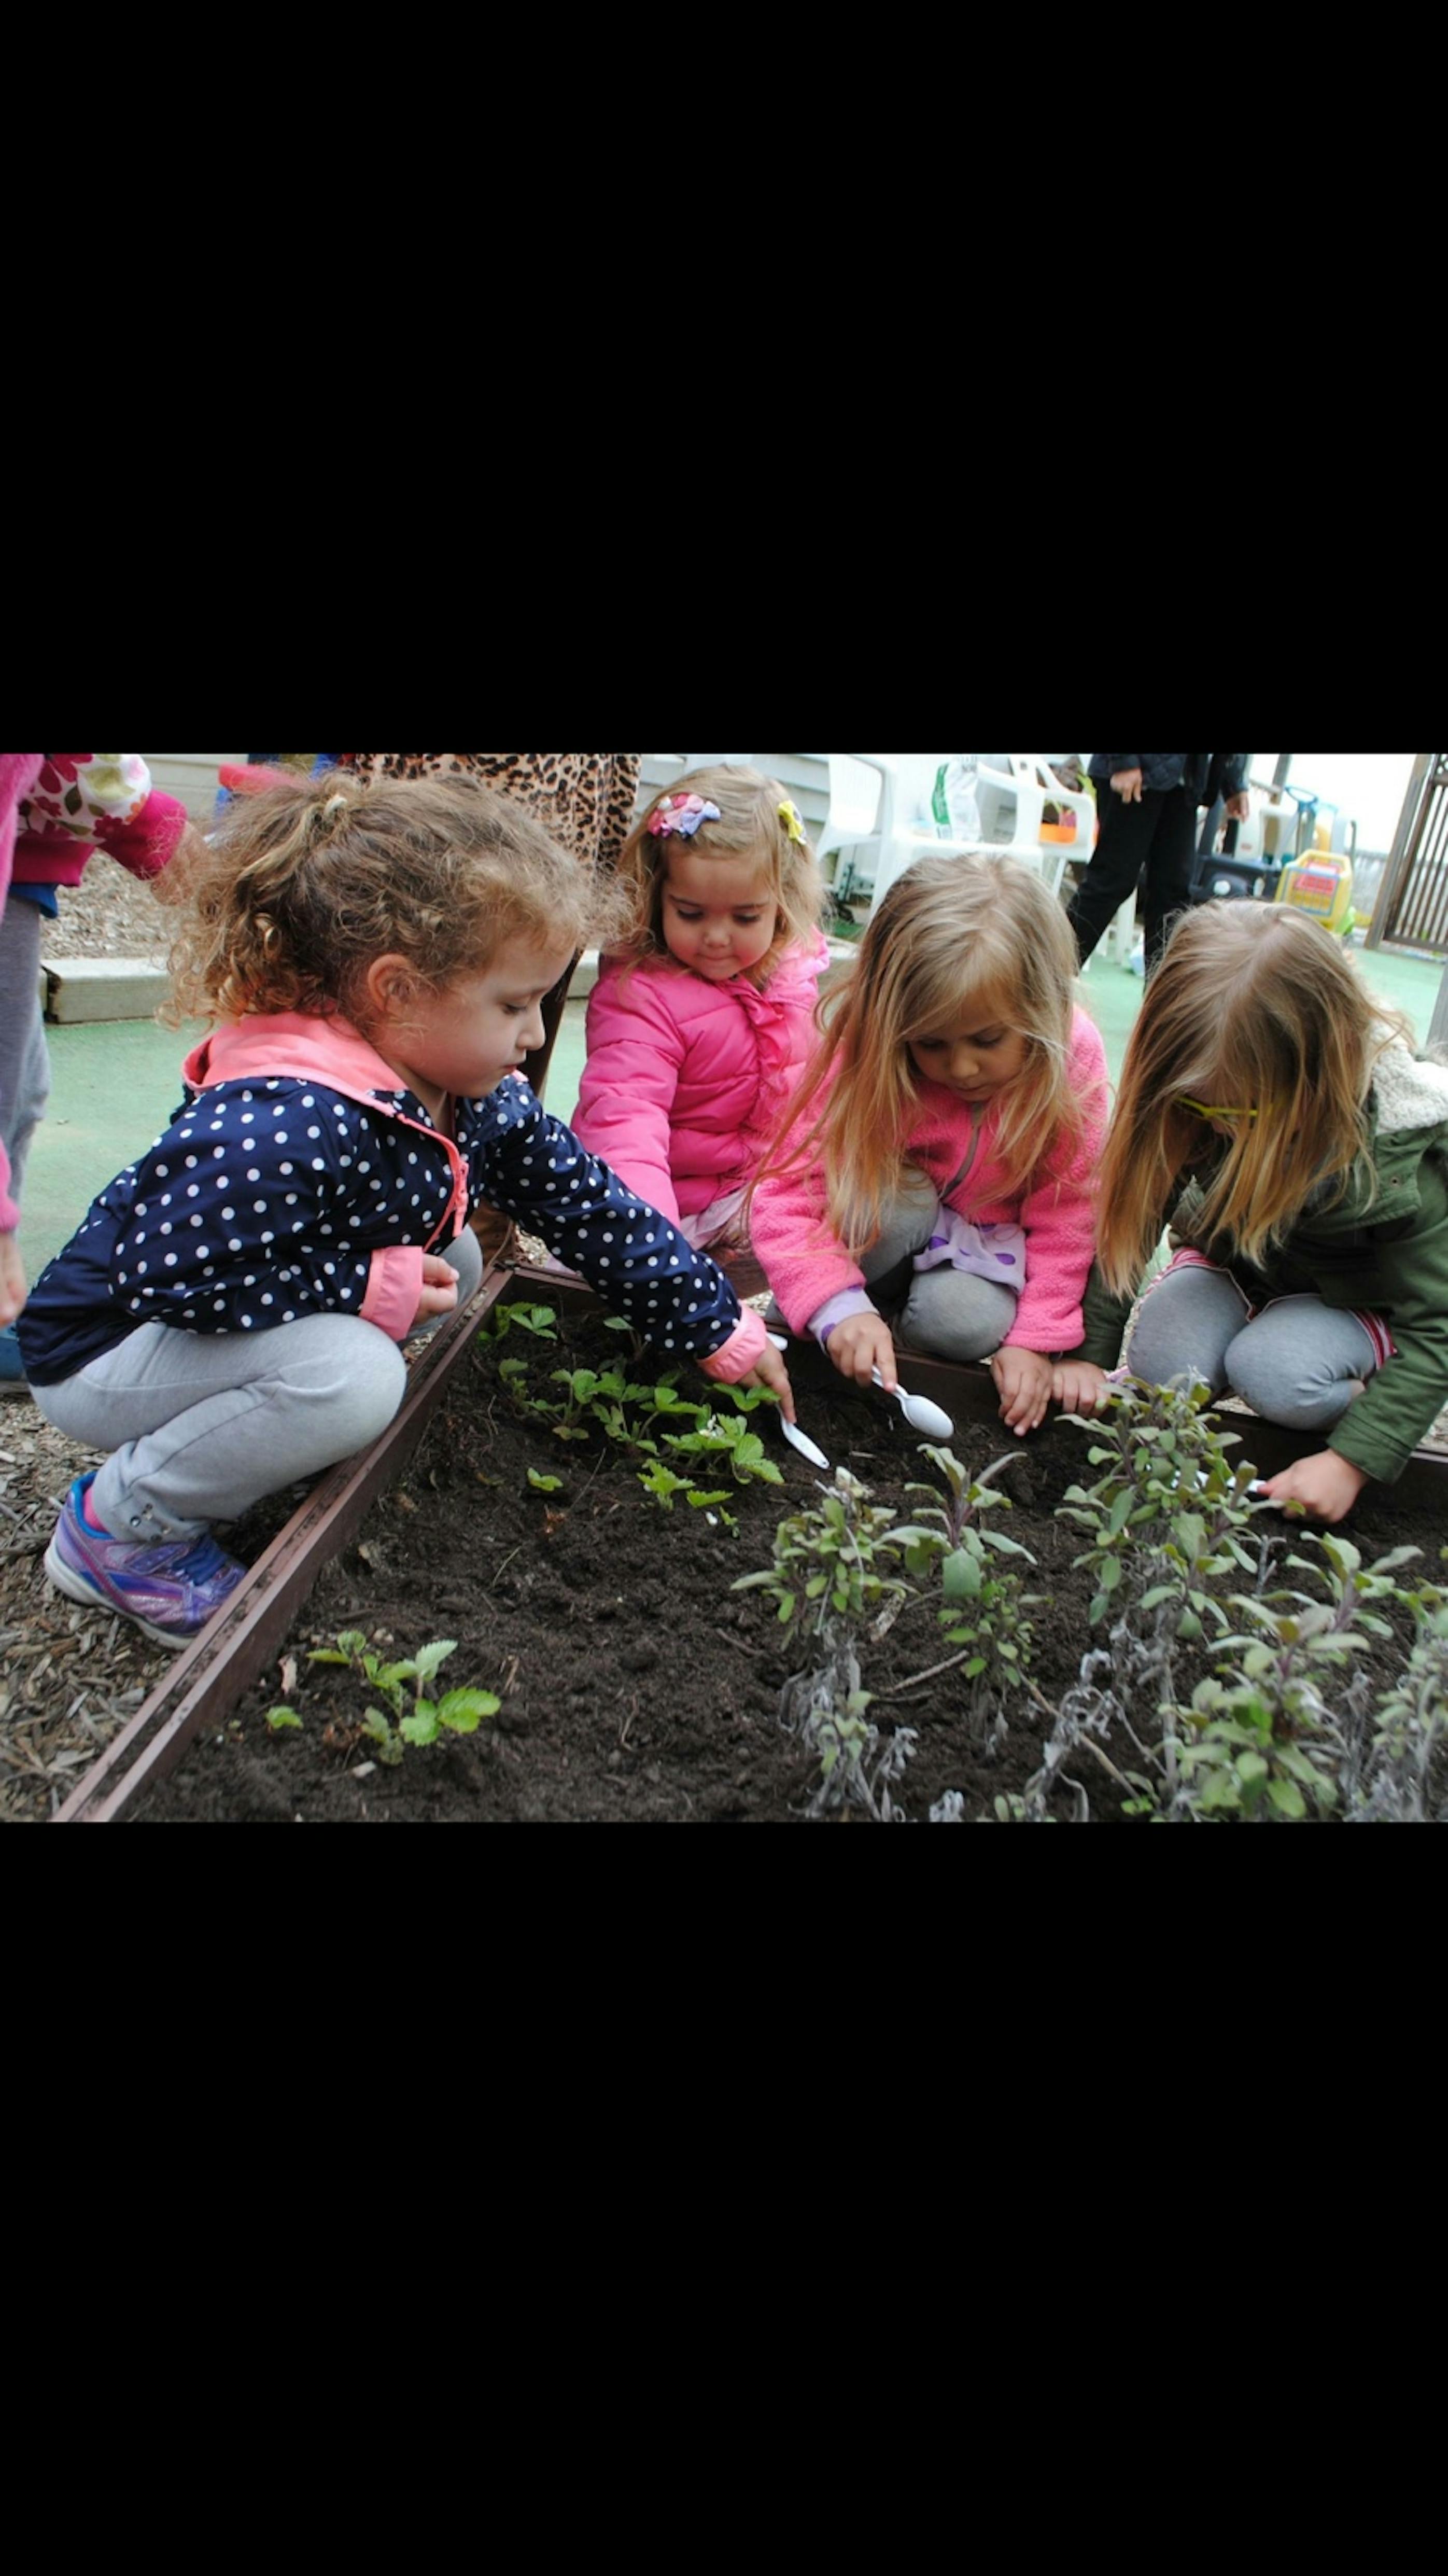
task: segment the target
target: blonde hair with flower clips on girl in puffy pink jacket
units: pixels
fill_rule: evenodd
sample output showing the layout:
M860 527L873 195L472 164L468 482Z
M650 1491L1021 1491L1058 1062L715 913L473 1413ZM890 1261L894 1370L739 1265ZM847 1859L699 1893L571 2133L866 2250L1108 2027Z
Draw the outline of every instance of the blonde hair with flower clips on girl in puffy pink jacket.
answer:
M773 943L750 971L750 981L763 989L786 948L806 948L819 938L824 881L794 799L786 796L778 778L765 778L763 770L745 765L688 770L672 788L654 796L634 824L616 871L629 896L629 927L616 940L616 953L631 966L647 966L670 953L665 886L672 837L657 835L652 824L660 806L675 796L701 796L703 804L719 806L719 822L701 822L685 848L701 858L757 858L763 863L765 902L776 904Z

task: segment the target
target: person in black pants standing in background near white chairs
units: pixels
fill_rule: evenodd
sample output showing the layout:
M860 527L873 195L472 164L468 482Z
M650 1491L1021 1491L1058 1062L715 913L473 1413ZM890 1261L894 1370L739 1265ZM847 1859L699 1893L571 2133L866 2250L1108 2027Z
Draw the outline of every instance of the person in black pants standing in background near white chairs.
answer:
M1147 884L1147 974L1162 963L1170 927L1190 904L1196 817L1226 799L1226 814L1247 822L1247 762L1252 752L1092 752L1100 840L1069 904L1082 966L1116 914Z

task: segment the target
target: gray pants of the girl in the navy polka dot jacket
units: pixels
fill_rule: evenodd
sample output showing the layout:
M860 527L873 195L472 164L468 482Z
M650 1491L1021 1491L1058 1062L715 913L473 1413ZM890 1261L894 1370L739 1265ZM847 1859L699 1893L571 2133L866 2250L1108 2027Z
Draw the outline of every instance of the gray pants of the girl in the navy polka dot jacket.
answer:
M482 1280L477 1234L443 1260L461 1303ZM67 1440L111 1450L93 1486L106 1528L170 1540L201 1538L214 1520L240 1520L265 1494L353 1458L386 1430L405 1388L402 1352L376 1324L317 1314L276 1332L142 1324L33 1396Z

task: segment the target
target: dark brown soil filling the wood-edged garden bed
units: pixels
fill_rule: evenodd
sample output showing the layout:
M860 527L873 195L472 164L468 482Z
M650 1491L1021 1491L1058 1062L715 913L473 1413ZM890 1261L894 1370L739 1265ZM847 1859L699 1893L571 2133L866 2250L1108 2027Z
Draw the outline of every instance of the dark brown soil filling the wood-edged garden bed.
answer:
M564 1347L520 1347L531 1383L549 1370L618 1365L618 1340L593 1316L562 1324ZM739 1489L739 1533L711 1528L675 1504L662 1515L639 1489L636 1461L595 1437L564 1448L518 1419L500 1378L500 1350L479 1345L448 1383L441 1414L402 1484L374 1510L358 1546L322 1577L278 1669L222 1736L198 1744L139 1808L137 1821L206 1824L788 1824L819 1785L819 1767L781 1726L781 1690L804 1667L799 1638L763 1595L734 1595L742 1574L773 1561L788 1510L817 1499L819 1476L755 1422L783 1473ZM649 1365L644 1363L644 1376ZM933 1388L938 1391L938 1388ZM693 1394L693 1383L685 1386ZM912 1479L930 1479L917 1435L884 1399L855 1396L824 1373L804 1386L801 1425L835 1466L848 1466L876 1502L904 1504ZM1000 1425L961 1422L956 1455L984 1468L1013 1448ZM1033 1680L1054 1705L1080 1677L1090 1643L1090 1587L1072 1569L1080 1535L1054 1520L1082 1479L1085 1435L1054 1427L1020 1448L1002 1479L1015 1510L1000 1522L1036 1556L1025 1569L1041 1595ZM557 1473L564 1492L541 1497L528 1471ZM724 1484L724 1476L711 1476ZM1087 1473L1090 1481L1090 1473ZM1440 1546L1422 1512L1368 1499L1353 1522L1368 1558L1394 1546ZM394 1659L456 1638L438 1690L477 1687L502 1710L469 1739L407 1749L399 1767L374 1762L358 1739L368 1692L353 1674L309 1667L312 1646L366 1631ZM920 1747L897 1798L925 1821L946 1790L966 1816L989 1816L1041 1765L1049 1723L1013 1700L1010 1734L987 1759L964 1674L917 1677L953 1654L935 1605L912 1605L879 1646L863 1651L871 1721L912 1726ZM1402 1656L1384 1649L1381 1674ZM294 1669L291 1669L294 1667ZM268 1710L286 1700L301 1731L273 1736ZM1082 1765L1072 1765L1074 1772ZM1090 1765L1087 1765L1090 1770ZM1087 1783L1092 1816L1116 1816L1105 1772Z

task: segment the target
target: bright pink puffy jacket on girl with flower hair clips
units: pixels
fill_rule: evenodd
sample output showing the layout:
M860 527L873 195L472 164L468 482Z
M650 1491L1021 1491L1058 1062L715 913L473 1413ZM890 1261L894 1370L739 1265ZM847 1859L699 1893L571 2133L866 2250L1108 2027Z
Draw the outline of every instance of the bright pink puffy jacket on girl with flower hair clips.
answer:
M575 1136L670 1224L755 1177L814 1046L824 940L788 948L760 992L608 958L587 1002Z

